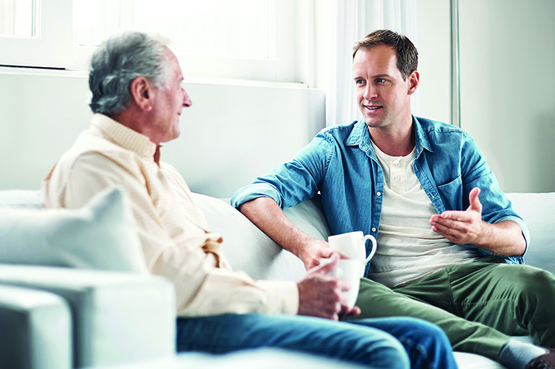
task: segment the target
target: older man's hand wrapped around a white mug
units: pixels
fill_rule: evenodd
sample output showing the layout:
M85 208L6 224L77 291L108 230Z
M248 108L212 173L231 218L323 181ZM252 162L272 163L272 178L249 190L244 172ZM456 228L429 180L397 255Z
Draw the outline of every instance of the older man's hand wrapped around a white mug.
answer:
M340 316L358 315L359 307L352 309L345 306L343 291L350 289L349 282L327 276L336 266L337 256L330 262L310 269L307 276L297 283L299 289L299 315L318 316L320 318L339 320Z

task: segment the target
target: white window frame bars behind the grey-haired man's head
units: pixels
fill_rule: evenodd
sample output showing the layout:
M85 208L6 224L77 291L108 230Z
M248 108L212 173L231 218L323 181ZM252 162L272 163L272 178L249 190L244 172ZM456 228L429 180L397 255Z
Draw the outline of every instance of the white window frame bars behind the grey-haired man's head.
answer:
M37 13L40 12L39 16L42 19L40 37L0 36L0 48L6 50L6 53L0 56L0 65L86 71L89 58L96 47L74 45L73 1L35 1ZM185 75L194 78L306 82L302 80L302 75L299 76L301 69L306 70L300 65L306 60L306 50L302 50L299 44L310 44L306 42L310 33L307 26L313 25L307 25L299 14L310 12L314 0L270 1L271 6L275 8L275 24L269 25L271 42L275 42L275 53L271 53L268 59L176 53ZM166 36L171 41L171 35Z

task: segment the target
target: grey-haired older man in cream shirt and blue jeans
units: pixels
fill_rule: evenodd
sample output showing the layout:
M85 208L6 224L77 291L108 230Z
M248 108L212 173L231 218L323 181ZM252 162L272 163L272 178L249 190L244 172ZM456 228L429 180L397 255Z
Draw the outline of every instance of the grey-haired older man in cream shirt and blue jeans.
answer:
M435 325L413 318L338 322L344 280L336 260L295 282L253 280L232 271L180 174L160 161L161 144L180 134L191 99L176 55L155 37L125 33L94 53L91 127L46 177L46 206L76 208L119 184L130 197L146 263L176 288L178 350L230 352L271 346L373 368L454 368ZM297 316L296 316L297 315Z

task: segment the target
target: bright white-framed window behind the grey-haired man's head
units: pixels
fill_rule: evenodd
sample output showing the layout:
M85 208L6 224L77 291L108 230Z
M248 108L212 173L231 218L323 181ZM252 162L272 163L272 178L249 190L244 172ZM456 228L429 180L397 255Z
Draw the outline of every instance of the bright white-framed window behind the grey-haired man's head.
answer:
M0 48L10 46L11 55L0 55L0 64L85 70L104 39L142 30L169 37L188 76L299 82L298 45L309 26L299 14L310 3L0 0L9 10L1 12Z

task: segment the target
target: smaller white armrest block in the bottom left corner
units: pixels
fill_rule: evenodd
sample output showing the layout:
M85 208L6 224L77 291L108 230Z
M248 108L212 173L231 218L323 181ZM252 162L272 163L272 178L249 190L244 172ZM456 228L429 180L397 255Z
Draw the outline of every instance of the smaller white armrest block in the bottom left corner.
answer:
M71 363L71 312L45 291L0 285L0 367L60 368Z

